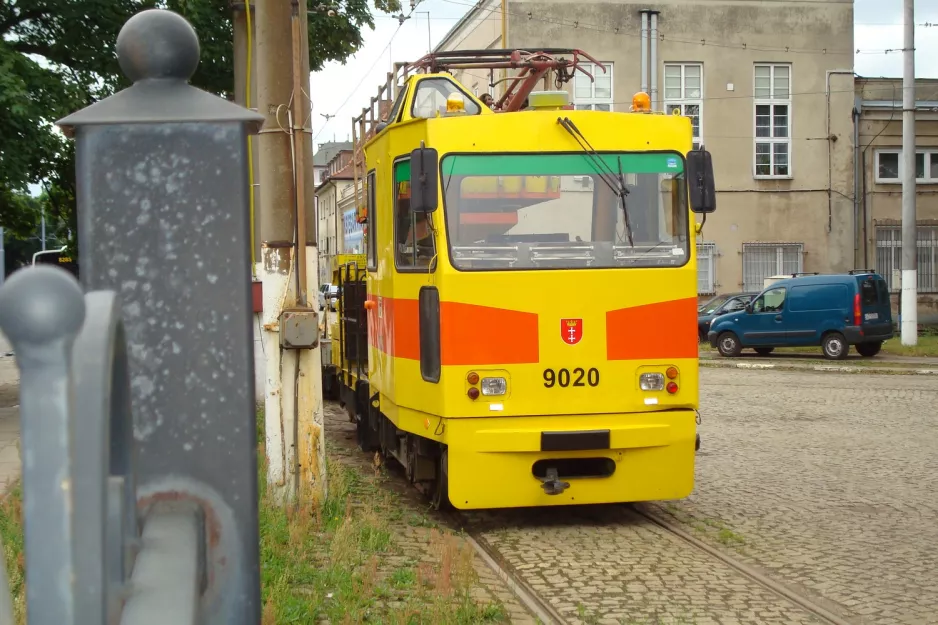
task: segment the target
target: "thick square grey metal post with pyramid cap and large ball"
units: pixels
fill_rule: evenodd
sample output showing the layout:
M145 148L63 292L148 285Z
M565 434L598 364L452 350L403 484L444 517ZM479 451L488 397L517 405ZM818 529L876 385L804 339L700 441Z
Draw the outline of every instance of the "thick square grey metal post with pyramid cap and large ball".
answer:
M132 17L117 55L133 86L59 125L76 139L82 284L120 294L143 547L179 526L178 513L160 512L168 501L196 505L207 536L201 622L256 624L246 139L263 118L188 84L199 43L175 13ZM135 580L151 579L149 567ZM127 618L142 614L134 602Z

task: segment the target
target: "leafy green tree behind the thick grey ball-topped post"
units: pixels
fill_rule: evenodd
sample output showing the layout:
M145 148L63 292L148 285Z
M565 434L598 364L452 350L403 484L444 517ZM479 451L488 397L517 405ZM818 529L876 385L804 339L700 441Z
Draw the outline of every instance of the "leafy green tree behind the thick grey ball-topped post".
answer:
M307 1L310 69L344 62L374 29L368 0ZM400 0L375 0L378 11ZM35 224L31 184L44 184L47 219L75 226L74 148L56 120L126 87L115 53L132 15L168 8L188 19L202 50L192 84L224 97L234 87L233 24L227 0L0 0L0 227L14 236Z

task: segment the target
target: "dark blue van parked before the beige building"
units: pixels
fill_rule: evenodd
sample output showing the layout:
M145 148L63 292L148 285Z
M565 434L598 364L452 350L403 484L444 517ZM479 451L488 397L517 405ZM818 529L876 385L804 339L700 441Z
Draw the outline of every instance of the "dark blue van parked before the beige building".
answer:
M707 333L722 356L819 345L832 360L846 358L851 345L861 356L875 356L892 336L889 291L873 270L779 280L744 310L714 319Z

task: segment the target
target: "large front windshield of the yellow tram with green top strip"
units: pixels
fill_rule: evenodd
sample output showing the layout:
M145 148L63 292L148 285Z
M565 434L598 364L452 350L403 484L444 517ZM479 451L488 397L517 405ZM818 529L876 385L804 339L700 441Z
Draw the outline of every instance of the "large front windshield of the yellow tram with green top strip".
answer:
M677 153L451 154L441 169L457 269L677 267L689 258Z

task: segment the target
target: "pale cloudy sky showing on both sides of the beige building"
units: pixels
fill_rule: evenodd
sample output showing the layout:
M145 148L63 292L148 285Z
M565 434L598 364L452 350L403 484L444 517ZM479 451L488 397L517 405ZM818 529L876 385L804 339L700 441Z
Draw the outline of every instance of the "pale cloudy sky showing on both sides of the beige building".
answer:
M365 29L365 45L355 56L344 65L329 63L310 77L314 145L350 139L352 117L377 94L391 64L426 54L430 44L435 46L473 5L473 0L423 0L403 24L376 13L375 29ZM405 0L404 14L408 13ZM500 21L500 16L496 12L487 19ZM938 58L938 1L915 0L915 23L916 77L938 78L938 63L932 60ZM902 0L855 0L857 74L901 77L902 39ZM588 42L583 47L589 51Z

